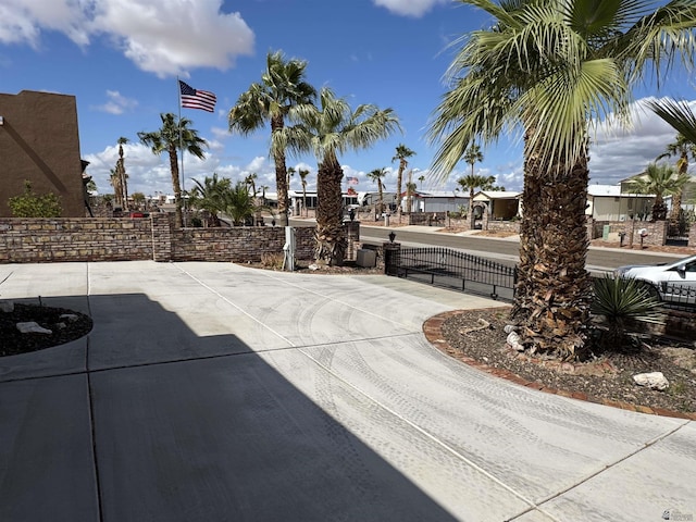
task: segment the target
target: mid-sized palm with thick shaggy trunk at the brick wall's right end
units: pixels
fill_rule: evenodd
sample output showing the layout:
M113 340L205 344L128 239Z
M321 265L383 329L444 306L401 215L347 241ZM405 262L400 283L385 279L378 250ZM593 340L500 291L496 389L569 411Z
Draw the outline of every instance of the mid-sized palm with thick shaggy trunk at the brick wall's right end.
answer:
M314 152L319 162L316 173L316 247L314 257L331 265L343 264L346 239L343 233L344 171L338 154L349 150L365 149L378 139L399 129L399 122L391 109L381 110L373 104L361 104L353 111L345 98L336 98L324 87L319 95L320 105L299 104L290 110L290 119L297 122L278 139L293 151Z

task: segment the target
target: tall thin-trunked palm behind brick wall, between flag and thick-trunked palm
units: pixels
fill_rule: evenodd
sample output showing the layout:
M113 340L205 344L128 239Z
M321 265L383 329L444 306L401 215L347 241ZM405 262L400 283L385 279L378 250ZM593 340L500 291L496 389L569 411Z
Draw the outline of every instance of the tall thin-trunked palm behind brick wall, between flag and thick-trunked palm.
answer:
M291 107L311 103L316 97L314 87L304 82L306 67L304 61L286 61L282 51L269 52L261 83L251 84L249 89L239 96L228 115L229 132L243 135L253 133L266 122L271 123L271 154L275 162L278 212L283 226L288 223L286 144L274 139L274 135L285 127L285 116Z

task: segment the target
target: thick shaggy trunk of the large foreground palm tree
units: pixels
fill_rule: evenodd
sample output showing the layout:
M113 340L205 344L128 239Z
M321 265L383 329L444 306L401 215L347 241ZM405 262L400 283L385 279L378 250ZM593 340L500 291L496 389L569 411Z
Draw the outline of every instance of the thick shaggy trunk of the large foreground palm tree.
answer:
M525 159L519 283L513 315L532 351L583 359L589 327L592 279L585 270L589 171L586 157L557 176L535 154Z

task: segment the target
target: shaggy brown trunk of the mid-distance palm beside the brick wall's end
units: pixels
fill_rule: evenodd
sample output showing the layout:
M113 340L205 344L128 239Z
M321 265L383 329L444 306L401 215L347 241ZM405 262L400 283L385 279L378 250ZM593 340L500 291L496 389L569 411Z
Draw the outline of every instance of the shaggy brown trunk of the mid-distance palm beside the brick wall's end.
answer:
M340 266L346 254L340 184L344 171L335 158L324 160L316 173L316 247L319 263Z

